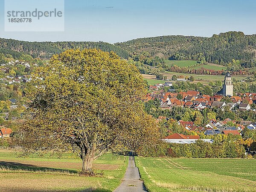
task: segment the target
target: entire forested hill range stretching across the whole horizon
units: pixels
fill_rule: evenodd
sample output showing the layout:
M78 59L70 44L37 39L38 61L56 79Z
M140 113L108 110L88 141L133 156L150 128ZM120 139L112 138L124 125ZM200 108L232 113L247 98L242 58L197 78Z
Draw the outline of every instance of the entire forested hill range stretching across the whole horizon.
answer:
M99 42L27 42L0 38L0 53L19 58L21 54L32 57L50 58L66 49L98 48L114 51L121 58L129 56L134 61L155 56L176 60L206 60L217 64L227 64L232 59L240 60L244 67L256 67L256 35L243 32L225 32L210 38L170 35L139 38L122 43Z

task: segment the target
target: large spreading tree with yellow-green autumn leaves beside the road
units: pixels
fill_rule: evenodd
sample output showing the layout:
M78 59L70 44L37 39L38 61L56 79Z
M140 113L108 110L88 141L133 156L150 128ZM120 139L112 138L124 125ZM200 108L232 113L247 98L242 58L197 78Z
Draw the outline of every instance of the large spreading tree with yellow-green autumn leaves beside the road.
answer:
M140 102L143 77L115 53L67 50L40 67L25 90L32 117L22 127L26 152L78 151L88 172L108 150L136 150L158 130Z

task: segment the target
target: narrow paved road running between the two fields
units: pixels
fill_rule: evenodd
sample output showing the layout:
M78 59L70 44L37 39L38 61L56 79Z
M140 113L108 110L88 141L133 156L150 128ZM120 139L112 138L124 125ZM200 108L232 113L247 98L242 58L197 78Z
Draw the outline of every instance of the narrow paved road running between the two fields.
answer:
M129 156L128 167L125 172L124 181L114 192L147 192L143 181L140 180L140 173L135 166L133 156Z

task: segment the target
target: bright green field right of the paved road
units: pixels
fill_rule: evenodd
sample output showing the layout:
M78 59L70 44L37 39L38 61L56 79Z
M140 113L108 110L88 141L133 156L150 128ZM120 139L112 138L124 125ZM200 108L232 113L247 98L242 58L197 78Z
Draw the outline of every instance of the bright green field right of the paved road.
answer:
M255 192L255 159L136 157L150 192Z

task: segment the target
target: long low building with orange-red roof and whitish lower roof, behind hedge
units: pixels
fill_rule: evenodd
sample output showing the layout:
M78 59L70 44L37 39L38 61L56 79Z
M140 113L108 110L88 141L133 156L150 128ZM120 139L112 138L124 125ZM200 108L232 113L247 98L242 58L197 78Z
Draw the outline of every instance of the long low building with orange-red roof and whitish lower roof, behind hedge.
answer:
M203 140L200 139L198 135L183 135L183 134L172 134L162 139L166 143L181 143L181 144L189 144L195 143L197 140L202 140L207 143L213 143L213 140Z

